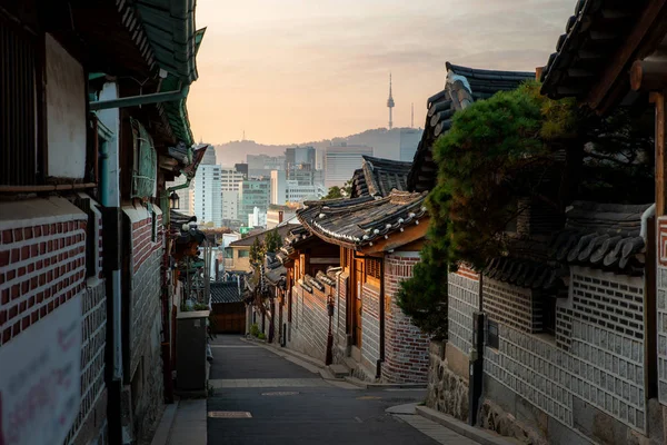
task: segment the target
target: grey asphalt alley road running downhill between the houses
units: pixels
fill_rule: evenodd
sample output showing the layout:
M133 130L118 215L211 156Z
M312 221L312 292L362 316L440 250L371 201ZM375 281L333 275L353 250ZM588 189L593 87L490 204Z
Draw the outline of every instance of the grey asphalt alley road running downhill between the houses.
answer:
M390 406L421 402L422 389L337 387L238 336L218 336L213 356L209 445L438 444L385 413Z

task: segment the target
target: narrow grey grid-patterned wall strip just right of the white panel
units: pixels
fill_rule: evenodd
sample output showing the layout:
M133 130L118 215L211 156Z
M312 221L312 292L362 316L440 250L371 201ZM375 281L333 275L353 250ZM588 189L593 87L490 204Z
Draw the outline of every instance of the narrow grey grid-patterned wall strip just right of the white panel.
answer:
M89 418L106 390L107 293L104 280L94 279L92 283L92 286L86 287L82 296L81 408L64 441L66 444L84 443L92 436L99 436L107 417L104 406L103 409L98 409L100 418ZM83 435L87 437L82 437Z

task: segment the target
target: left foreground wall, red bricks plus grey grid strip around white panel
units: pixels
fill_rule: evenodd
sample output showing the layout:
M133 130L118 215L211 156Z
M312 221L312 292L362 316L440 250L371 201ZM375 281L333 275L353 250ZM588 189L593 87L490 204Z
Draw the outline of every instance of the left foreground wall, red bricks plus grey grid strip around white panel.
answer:
M87 229L101 243L101 216L87 209L97 217L92 228L88 215L63 198L0 205L0 345L82 295L81 405L66 444L106 441L106 287L99 264L86 270ZM101 249L90 254L101 261Z

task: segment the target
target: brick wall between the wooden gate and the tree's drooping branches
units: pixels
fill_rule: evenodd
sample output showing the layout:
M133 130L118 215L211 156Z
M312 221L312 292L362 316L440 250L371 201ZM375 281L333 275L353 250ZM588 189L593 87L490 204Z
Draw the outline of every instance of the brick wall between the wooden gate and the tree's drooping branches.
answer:
M412 276L412 266L419 261L419 253L410 254L385 257L382 379L391 383L426 382L428 376L429 337L396 304L400 281Z

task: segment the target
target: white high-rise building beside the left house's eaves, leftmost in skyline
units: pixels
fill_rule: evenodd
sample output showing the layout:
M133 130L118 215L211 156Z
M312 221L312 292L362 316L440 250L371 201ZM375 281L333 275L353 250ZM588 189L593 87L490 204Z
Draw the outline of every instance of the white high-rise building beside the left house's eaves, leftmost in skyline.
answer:
M222 194L220 166L200 165L192 187L192 209L200 224L222 226Z

